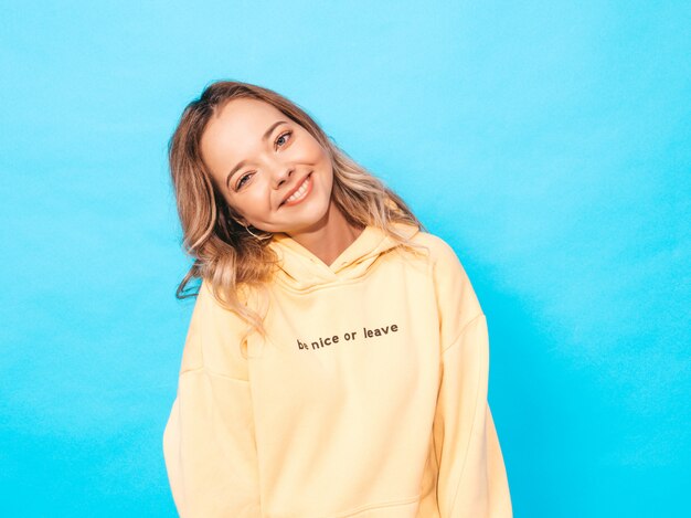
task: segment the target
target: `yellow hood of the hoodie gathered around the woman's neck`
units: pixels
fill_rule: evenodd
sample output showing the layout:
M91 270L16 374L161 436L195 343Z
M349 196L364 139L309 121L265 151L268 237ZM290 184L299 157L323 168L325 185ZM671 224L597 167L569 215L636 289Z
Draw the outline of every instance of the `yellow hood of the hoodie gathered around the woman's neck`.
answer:
M392 225L407 239L419 232L416 225L410 223L395 222ZM275 233L268 246L280 260L276 282L291 290L302 292L333 282L362 277L380 255L396 245L382 229L366 225L331 265L327 265L284 232Z

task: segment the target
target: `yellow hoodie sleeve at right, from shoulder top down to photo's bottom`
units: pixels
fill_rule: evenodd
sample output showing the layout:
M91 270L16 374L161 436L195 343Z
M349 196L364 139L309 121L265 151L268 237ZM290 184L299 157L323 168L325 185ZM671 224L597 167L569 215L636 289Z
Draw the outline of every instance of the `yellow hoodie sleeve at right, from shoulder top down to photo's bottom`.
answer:
M442 337L442 376L433 424L439 515L511 518L507 472L487 400L487 319L458 257L446 244L435 275L440 283Z

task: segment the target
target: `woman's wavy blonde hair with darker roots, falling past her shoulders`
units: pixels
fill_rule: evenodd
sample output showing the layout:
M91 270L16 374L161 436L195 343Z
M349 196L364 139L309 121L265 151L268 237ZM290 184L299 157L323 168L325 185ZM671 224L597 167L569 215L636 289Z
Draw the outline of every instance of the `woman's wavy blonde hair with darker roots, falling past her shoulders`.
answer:
M205 279L216 300L237 314L252 329L265 336L264 315L247 307L252 288L270 282L278 256L268 247L272 232L257 230L255 237L237 219L240 214L225 201L201 158L200 139L211 117L226 103L253 98L270 104L302 126L327 150L333 166L332 199L347 221L354 226L382 229L397 245L413 250L418 245L396 232L393 222L424 225L405 202L380 179L352 160L323 133L299 106L267 88L248 83L219 81L206 86L198 99L183 110L168 146L170 173L182 225L182 247L194 262L179 284L177 298L193 278Z

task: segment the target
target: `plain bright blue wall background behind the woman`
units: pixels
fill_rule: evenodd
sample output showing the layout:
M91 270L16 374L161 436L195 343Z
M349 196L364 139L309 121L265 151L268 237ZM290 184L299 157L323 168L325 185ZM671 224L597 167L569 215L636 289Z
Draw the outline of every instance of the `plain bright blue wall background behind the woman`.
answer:
M457 251L520 517L690 516L690 2L0 3L0 515L176 516L166 148L259 84Z

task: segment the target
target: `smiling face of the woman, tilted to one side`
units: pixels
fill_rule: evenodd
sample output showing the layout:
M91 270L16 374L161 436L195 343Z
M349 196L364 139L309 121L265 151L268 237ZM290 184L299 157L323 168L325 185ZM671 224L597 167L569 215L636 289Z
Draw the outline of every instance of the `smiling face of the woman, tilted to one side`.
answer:
M300 125L258 99L233 99L210 119L202 159L241 222L269 232L309 232L323 224L333 168Z

